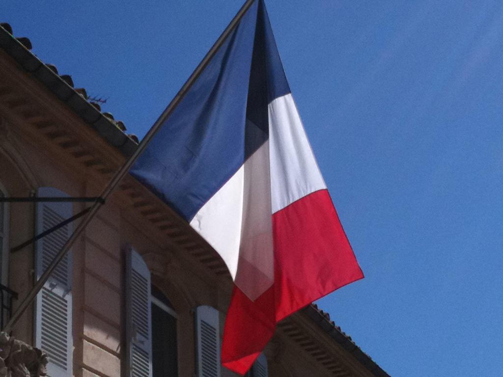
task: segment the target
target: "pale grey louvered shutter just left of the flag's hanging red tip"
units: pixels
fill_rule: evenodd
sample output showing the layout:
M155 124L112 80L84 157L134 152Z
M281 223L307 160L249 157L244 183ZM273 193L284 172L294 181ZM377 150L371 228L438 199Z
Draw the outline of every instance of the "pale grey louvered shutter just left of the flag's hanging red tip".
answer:
M218 310L196 309L197 376L220 377L220 334Z

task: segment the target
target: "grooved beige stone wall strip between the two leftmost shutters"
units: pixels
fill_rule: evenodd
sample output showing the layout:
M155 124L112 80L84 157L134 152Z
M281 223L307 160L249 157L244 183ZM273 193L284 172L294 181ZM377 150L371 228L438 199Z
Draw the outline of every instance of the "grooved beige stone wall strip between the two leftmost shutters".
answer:
M122 255L119 210L104 206L85 231L82 290L74 309L74 370L83 376L120 377ZM76 267L76 266L75 266ZM74 292L76 294L76 292Z

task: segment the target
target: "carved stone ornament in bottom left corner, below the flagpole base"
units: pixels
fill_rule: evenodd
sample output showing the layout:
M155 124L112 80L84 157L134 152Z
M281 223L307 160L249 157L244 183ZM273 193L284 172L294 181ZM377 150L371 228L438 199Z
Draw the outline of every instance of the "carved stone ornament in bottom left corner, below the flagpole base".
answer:
M0 377L44 377L46 366L40 349L0 332Z

